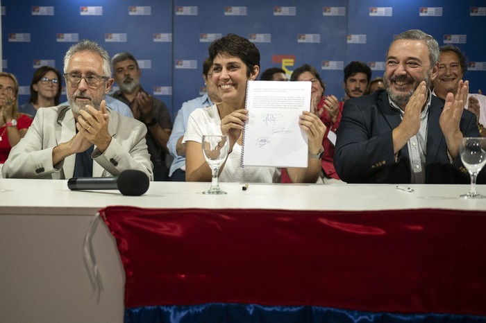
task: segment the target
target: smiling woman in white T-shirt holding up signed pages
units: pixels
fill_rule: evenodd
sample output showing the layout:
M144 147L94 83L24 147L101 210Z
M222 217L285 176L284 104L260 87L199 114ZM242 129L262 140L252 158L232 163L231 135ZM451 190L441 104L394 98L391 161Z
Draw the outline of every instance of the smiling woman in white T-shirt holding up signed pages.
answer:
M230 153L219 170L221 182L280 182L280 168L240 166L242 129L248 120L244 109L246 81L255 80L260 71L260 52L243 37L229 34L212 42L209 48L212 61L212 81L221 103L196 109L189 117L183 142L186 144L186 174L189 181L211 180L211 171L201 148L203 134L228 134ZM326 126L315 113L303 112L300 128L308 135L307 168L287 168L292 182L315 183L321 171L322 150Z

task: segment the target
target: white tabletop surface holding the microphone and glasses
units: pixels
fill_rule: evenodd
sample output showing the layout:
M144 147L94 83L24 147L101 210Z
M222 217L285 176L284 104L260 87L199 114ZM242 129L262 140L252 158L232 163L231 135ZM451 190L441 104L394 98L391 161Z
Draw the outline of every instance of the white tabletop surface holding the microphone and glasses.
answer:
M124 196L117 190L69 191L66 180L0 179L0 214L85 214L110 205L146 208L209 209L469 209L486 210L486 200L464 200L469 185L392 184L249 184L221 183L226 195L203 195L209 183L151 182L142 196ZM486 195L486 185L478 185Z

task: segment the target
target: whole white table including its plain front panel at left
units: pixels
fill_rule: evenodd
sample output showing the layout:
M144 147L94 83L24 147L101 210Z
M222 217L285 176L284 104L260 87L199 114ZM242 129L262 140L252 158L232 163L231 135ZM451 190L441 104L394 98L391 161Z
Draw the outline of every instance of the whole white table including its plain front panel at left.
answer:
M0 322L123 322L124 271L114 238L100 223L93 237L103 290L93 293L83 239L103 207L378 210L486 210L462 200L468 185L221 183L227 195L203 195L209 183L151 182L142 196L69 191L65 180L0 179ZM478 186L486 194L486 186Z

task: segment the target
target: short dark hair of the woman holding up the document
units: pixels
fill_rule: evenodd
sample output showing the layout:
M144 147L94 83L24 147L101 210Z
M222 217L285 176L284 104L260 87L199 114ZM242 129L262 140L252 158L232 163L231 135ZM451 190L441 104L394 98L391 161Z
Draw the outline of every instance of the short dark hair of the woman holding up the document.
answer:
M215 61L217 55L224 53L240 58L244 62L247 78L253 73L255 66L260 67L260 51L258 51L255 44L244 37L228 34L210 44L209 59L211 62Z

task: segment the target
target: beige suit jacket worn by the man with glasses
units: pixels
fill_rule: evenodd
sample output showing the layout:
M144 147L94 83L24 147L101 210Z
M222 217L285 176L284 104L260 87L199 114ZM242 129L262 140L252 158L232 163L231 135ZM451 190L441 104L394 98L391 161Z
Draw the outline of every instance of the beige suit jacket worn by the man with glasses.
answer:
M107 109L108 110L108 109ZM101 153L92 153L93 177L118 176L126 169L137 169L153 180L152 163L147 150L146 126L133 118L108 110L110 145ZM76 120L69 106L45 107L37 110L26 136L12 148L3 165L3 177L46 178L67 180L74 174L76 155L53 165L52 150L76 134Z

